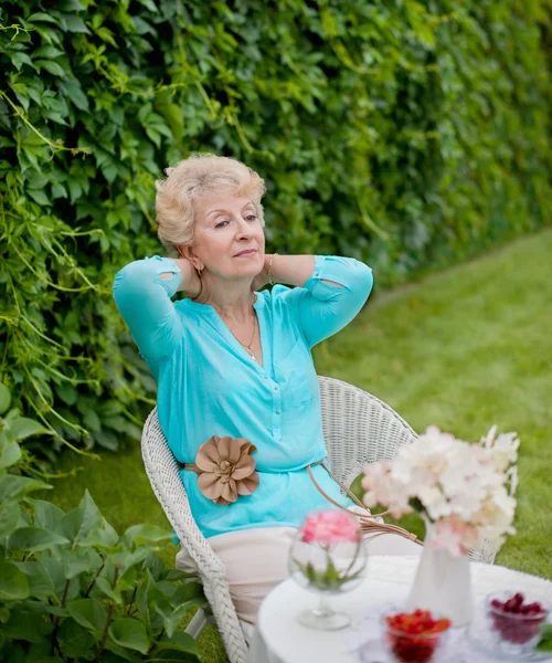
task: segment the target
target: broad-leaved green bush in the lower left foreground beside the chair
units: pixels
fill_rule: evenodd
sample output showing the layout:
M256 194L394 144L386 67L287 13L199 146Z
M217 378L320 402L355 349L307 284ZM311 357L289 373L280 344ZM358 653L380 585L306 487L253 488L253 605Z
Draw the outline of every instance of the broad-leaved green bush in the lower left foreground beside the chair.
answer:
M135 525L119 536L88 492L68 513L30 497L51 487L17 473L19 442L40 424L9 404L0 383L0 661L197 661L178 628L205 599L157 555L170 534Z

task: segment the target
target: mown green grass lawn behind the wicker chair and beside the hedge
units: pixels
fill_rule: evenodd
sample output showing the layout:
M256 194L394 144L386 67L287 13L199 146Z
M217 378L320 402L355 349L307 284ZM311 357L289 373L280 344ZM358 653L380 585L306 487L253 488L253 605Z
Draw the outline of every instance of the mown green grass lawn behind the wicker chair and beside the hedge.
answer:
M341 378L395 408L417 431L429 423L465 440L491 424L518 431L518 534L497 564L552 578L552 231L374 297L346 330L316 351L318 372ZM140 451L100 462L65 455L53 499L73 507L87 487L119 530L166 519ZM168 561L174 548L162 551ZM225 661L214 629L202 659Z

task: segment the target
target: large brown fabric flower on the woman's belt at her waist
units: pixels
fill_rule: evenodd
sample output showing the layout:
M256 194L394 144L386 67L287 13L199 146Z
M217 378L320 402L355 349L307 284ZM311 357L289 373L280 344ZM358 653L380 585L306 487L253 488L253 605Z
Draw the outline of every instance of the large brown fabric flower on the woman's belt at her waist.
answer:
M256 446L244 438L213 435L199 448L195 463L184 469L198 474L198 487L208 499L229 505L258 486L254 451Z

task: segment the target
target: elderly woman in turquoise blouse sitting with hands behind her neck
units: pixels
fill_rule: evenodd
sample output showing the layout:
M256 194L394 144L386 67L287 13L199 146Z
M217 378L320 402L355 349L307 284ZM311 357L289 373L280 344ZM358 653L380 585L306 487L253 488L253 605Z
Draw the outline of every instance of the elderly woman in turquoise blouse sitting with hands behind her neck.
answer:
M193 516L225 565L238 615L253 622L287 575L305 516L338 508L307 470L326 456L311 348L359 313L372 272L352 259L266 254L264 182L237 160L198 155L167 175L159 238L179 257L130 263L114 296L158 382L159 422ZM172 303L179 291L188 298ZM352 504L322 466L311 472L332 501ZM371 545L416 551L392 535Z

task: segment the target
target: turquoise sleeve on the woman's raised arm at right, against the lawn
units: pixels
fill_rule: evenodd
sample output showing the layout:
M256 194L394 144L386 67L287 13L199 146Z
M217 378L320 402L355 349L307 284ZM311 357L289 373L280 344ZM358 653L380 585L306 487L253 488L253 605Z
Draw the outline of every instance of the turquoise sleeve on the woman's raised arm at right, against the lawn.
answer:
M364 263L352 257L316 255L315 270L305 287L288 293L297 306L297 319L309 347L346 327L367 302L372 284L372 270Z

